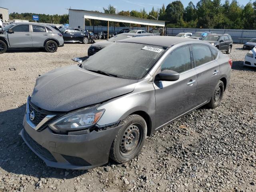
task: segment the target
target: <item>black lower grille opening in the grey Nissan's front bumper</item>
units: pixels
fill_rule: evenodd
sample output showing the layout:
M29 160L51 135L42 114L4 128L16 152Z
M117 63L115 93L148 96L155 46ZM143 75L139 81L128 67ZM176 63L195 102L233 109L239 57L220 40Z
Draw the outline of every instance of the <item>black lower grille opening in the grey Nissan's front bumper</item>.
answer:
M24 130L24 138L26 142L32 147L40 156L43 158L48 159L49 161L57 162L56 159L52 156L50 151L48 151L46 148L42 147L40 144L38 144L34 139L32 139L29 134Z

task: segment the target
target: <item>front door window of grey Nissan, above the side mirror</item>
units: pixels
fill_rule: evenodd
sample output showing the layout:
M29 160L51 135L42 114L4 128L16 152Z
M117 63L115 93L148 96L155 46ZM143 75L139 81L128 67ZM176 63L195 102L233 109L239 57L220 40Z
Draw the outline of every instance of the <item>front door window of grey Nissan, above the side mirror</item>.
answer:
M189 46L182 46L172 51L161 64L161 71L173 70L182 73L191 69Z

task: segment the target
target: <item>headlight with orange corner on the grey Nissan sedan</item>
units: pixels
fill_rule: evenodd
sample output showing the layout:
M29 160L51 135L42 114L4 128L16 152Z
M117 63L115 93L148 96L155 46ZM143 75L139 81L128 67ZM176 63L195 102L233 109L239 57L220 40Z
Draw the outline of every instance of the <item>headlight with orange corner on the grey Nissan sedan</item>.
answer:
M70 114L66 114L49 126L53 130L82 130L91 127L100 120L104 109L97 110L99 105L88 107Z

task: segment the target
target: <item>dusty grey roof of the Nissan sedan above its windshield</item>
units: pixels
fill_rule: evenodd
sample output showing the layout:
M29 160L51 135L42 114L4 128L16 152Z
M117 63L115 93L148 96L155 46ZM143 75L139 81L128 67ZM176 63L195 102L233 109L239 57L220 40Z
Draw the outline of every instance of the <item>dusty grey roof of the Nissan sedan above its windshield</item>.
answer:
M131 43L140 43L140 44L150 44L156 46L164 46L169 47L173 44L181 43L181 42L200 42L200 40L196 39L188 39L188 38L181 38L181 37L173 37L173 36L142 36L136 38L128 38L124 40L119 40L118 42L131 42Z

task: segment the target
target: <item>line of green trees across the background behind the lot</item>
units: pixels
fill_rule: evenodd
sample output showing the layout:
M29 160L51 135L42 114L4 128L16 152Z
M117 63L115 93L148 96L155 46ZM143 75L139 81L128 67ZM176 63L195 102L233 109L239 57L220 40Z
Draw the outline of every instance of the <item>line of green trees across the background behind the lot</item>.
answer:
M166 7L156 10L154 7L147 13L145 8L138 10L116 12L116 8L109 5L103 8L105 13L119 14L123 16L133 16L138 18L154 19L150 15L159 20L165 20L167 27L174 28L229 28L229 29L256 29L256 1L249 1L246 6L241 6L238 0L225 0L221 4L221 0L199 0L196 6L189 2L184 8L179 0L173 1ZM68 14L64 15L46 15L34 13L11 13L10 20L22 19L32 22L32 15L39 16L39 22L42 23L68 23ZM101 20L85 20L86 25L106 26L106 21ZM129 27L129 23L110 22L110 26ZM131 26L140 26L132 24Z

